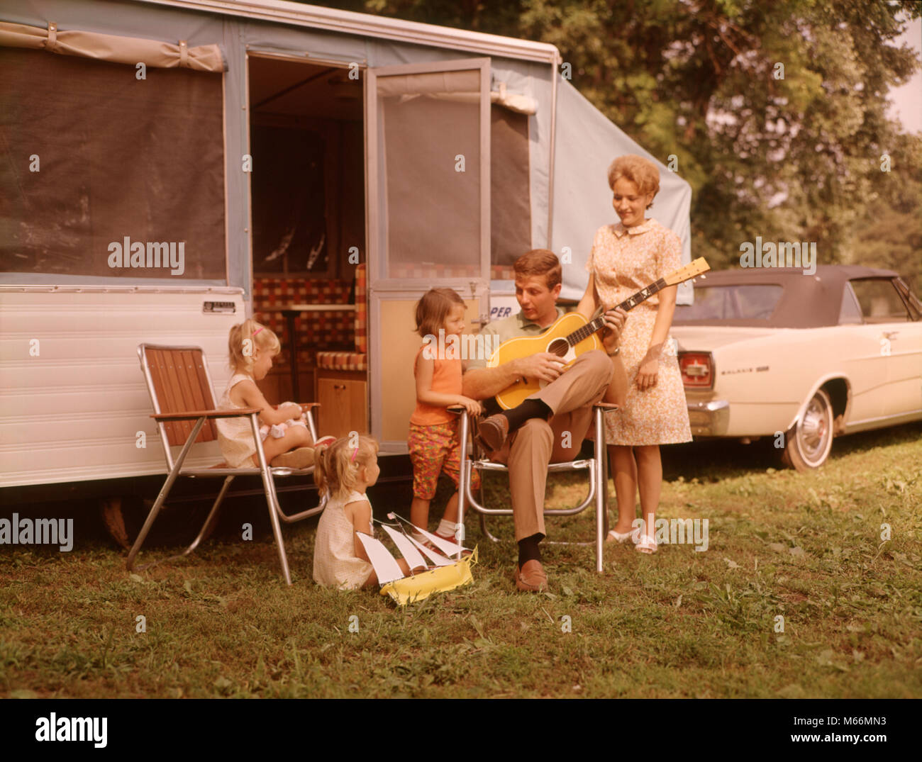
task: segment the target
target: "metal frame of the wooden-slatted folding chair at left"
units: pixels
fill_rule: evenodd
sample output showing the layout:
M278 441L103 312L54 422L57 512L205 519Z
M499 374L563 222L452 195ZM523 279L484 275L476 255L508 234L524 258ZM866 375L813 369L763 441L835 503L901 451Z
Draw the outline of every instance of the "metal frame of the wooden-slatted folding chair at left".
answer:
M206 404L208 409L204 410L190 410L187 412L171 412L164 413L160 401L160 393L155 388L154 380L150 372L150 366L148 363L148 350L159 350L159 351L169 351L169 352L197 352L198 358L201 360L201 365L199 369L204 371L204 380L199 377L199 390L202 397L202 401ZM215 499L214 504L211 506L211 510L208 511L207 518L205 523L202 524L202 529L196 535L195 540L192 542L192 545L189 545L183 553L180 553L176 556L171 556L168 558L163 558L160 561L155 561L153 563L147 564L142 567L137 567L137 569L148 569L155 564L161 563L162 561L171 561L177 558L183 558L191 554L196 547L202 542L202 539L205 537L208 527L211 523L217 518L218 510L223 502L225 496L227 495L228 489L231 487L231 482L237 476L243 475L260 475L263 480L263 487L266 492L266 504L269 510L269 522L272 524L272 533L275 536L276 545L278 547L278 560L281 563L282 575L285 578L287 584L291 584L291 574L288 563L288 556L285 553L285 544L282 540L281 535L281 524L279 520L286 523L300 522L302 519L310 518L315 516L325 509L326 500L325 496L321 499L320 504L314 508L308 510L302 510L299 513L293 515L286 514L278 503L278 493L276 492L275 477L276 476L290 476L290 475L311 475L313 474L313 466L309 468L280 468L272 467L266 463L266 453L263 451L263 442L259 437L259 409L255 407L243 408L241 410L217 410L215 409L214 402L214 384L211 381L211 374L208 372L208 365L205 361L205 353L202 351L200 346L166 346L166 345L156 345L156 344L140 344L137 346L137 356L141 363L141 370L144 372L145 381L148 385L148 393L150 394L150 401L154 407L154 413L150 417L154 418L157 421L157 428L160 433L160 442L163 445L163 452L166 456L167 467L170 469L169 474L167 475L166 482L164 482L163 487L160 488L160 494L157 496L154 505L151 507L150 512L148 513L147 521L144 522L144 526L141 527L140 533L138 533L135 540L135 544L132 545L131 551L128 553L127 560L127 569L131 571L135 569L135 559L138 551L141 549L141 545L144 544L145 539L148 536L151 526L156 521L160 509L163 507L163 504L166 502L167 497L170 494L171 488L175 483L176 479L179 476L190 476L195 478L197 476L202 477L224 477L224 484L221 486L218 498ZM204 382L203 382L204 381ZM193 390L195 391L195 390ZM319 404L311 403L304 405L307 409L305 410L307 417L307 425L313 436L313 440L317 440L317 429L313 422L312 409L313 407L319 407ZM202 467L192 467L192 468L183 468L183 463L185 462L186 456L189 454L189 451L192 449L192 445L195 443L195 440L198 439L199 433L201 432L206 421L209 422L209 426L212 426L212 421L218 418L233 418L233 417L248 417L250 420L250 427L253 431L254 439L256 441L256 456L259 461L259 467L254 466L231 468L231 467L212 467L212 468L202 468ZM195 424L192 426L192 431L186 437L185 442L183 443L183 449L180 451L179 455L176 457L176 460L173 460L171 447L177 445L170 443L170 436L167 430L168 424L179 424L183 421L195 421ZM187 424L186 424L187 426Z

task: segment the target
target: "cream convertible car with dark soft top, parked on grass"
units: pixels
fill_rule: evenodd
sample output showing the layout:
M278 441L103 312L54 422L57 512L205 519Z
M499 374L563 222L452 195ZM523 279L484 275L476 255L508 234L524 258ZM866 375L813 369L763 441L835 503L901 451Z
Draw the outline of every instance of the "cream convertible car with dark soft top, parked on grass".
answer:
M671 334L695 437L774 437L804 471L834 436L922 420L922 303L890 270L707 273Z

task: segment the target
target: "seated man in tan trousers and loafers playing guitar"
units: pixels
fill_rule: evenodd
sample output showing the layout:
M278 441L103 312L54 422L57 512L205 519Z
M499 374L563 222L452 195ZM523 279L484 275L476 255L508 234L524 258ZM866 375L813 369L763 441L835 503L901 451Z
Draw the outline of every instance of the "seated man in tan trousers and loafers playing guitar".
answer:
M561 293L561 264L554 252L535 249L514 264L515 298L522 311L491 322L481 334L507 341L542 334L563 311L556 307ZM479 440L492 451L491 460L509 468L515 540L519 547L515 584L520 591L547 590L538 544L545 537L544 493L548 464L573 460L592 422L592 405L600 400L623 404L627 376L618 357L618 339L627 313L605 313L604 351L585 352L563 369L565 360L550 352L517 358L495 368L485 359L468 360L463 393L488 401L522 377L546 381L538 393L511 410L479 422ZM493 403L493 409L498 405ZM569 436L566 436L569 433ZM569 446L564 447L564 444Z

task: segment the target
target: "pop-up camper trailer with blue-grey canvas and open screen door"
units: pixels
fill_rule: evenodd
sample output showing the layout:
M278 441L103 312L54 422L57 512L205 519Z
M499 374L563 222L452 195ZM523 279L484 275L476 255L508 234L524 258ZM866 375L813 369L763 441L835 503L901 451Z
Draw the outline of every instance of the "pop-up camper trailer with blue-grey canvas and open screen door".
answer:
M653 158L570 74L549 44L278 0L5 0L0 486L162 474L136 346L203 346L219 394L251 314L284 350L270 401L406 452L414 302L453 287L477 330L540 247L578 299L610 160ZM691 190L656 163L688 263Z

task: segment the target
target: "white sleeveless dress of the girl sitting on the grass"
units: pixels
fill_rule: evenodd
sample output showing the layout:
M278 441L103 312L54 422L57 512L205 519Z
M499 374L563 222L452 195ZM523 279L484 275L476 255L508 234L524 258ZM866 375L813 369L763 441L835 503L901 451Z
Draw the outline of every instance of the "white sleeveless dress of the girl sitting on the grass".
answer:
M356 492L329 498L317 524L317 539L313 548L313 579L324 587L339 590L360 588L371 576L372 565L355 555L355 529L346 516L345 508L367 496ZM369 533L374 528L369 527Z

